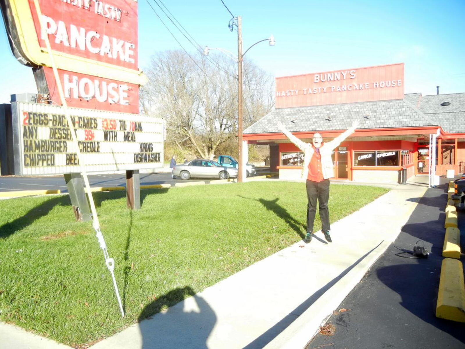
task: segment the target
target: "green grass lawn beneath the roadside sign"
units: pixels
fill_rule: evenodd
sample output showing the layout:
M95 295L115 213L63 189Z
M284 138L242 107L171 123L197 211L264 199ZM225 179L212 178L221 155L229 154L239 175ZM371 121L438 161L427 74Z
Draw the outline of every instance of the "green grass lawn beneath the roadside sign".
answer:
M387 192L331 185L331 221ZM304 183L248 182L94 195L126 316L90 222L69 197L0 201L0 320L85 346L303 238ZM321 227L319 217L315 230Z

